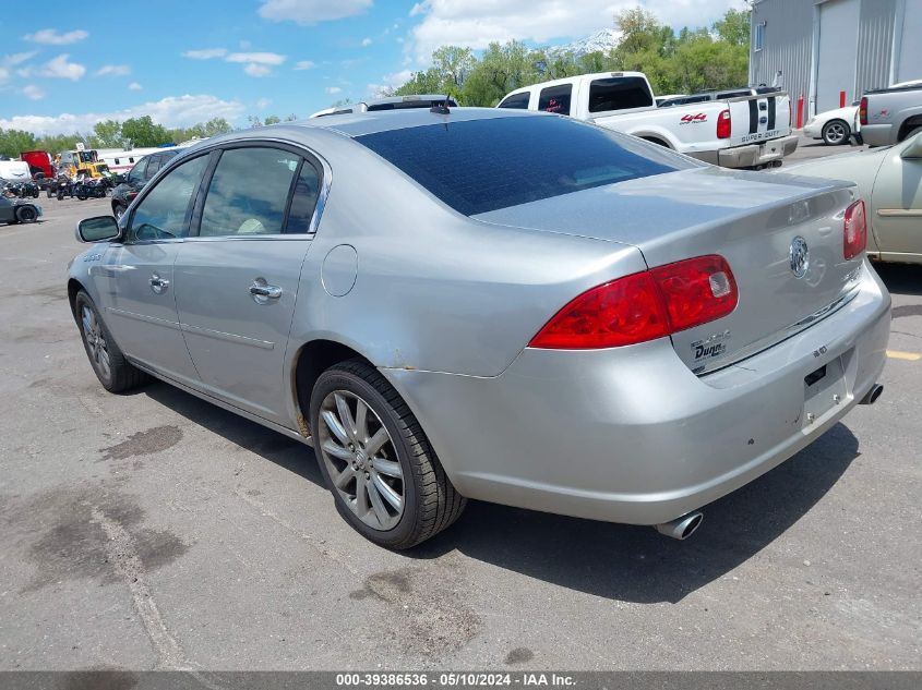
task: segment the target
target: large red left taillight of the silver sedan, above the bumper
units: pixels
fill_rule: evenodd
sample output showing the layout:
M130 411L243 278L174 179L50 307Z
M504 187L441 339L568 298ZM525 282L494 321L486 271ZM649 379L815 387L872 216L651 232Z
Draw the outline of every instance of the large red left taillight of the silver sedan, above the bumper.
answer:
M592 288L570 302L528 343L591 350L646 342L726 316L737 281L722 256L698 256Z

